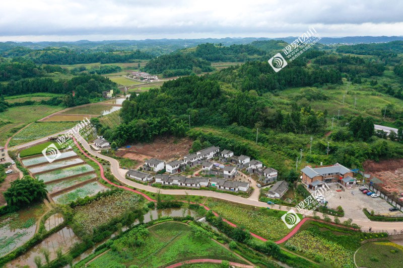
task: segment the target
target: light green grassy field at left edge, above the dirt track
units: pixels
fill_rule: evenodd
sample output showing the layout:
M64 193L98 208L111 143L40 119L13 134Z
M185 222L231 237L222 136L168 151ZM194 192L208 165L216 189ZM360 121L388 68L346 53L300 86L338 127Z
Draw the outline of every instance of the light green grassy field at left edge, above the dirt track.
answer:
M0 145L27 124L62 110L59 106L32 105L9 108L0 113Z

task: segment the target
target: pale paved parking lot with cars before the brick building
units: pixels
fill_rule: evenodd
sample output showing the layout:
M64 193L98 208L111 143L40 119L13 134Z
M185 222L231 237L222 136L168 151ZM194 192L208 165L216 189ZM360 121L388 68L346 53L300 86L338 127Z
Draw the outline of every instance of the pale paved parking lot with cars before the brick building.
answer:
M392 206L388 204L382 198L372 198L360 192L359 187L353 189L346 189L343 192L337 192L339 189L338 184L329 184L331 197L326 198L328 201L327 206L331 209L336 209L338 206L342 206L345 212L345 218L368 220L362 211L366 208L369 212L373 210L375 214L391 214L396 212L390 212L389 208ZM397 211L397 215L403 216L403 213Z

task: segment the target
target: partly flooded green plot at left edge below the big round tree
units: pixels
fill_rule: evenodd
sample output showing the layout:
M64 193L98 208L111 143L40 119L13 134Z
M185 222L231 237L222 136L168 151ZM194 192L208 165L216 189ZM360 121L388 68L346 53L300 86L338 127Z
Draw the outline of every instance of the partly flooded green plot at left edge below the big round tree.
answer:
M37 205L0 217L0 256L23 245L34 234L36 221L44 212L43 205Z

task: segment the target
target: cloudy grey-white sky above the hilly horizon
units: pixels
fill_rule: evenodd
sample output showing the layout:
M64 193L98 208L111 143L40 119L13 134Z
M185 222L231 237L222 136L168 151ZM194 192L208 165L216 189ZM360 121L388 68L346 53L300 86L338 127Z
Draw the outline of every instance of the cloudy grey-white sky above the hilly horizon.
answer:
M1 0L0 41L403 36L403 1Z

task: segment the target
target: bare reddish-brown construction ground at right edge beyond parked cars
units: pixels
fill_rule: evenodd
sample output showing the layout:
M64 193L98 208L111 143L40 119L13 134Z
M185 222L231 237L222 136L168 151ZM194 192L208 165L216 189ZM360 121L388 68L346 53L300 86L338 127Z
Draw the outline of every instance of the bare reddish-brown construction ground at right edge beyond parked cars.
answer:
M382 181L382 188L390 193L403 193L403 159L390 159L379 162L367 160L363 163L371 178Z

